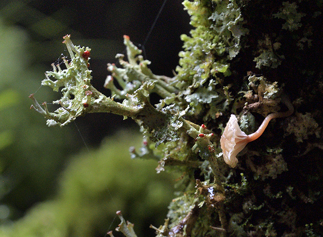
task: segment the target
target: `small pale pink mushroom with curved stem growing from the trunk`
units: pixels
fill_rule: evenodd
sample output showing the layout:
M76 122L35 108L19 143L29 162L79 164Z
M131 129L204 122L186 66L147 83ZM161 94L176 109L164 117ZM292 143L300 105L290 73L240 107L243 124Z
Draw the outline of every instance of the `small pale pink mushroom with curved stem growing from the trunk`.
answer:
M269 121L273 118L287 117L294 112L294 108L288 99L284 101L284 103L288 107L288 111L269 114L260 127L250 135L241 131L237 117L234 114L231 114L229 122L224 128L220 139L223 159L226 164L229 164L232 168L236 167L238 164L238 159L236 158L237 154L247 145L247 143L252 142L261 136L267 128Z

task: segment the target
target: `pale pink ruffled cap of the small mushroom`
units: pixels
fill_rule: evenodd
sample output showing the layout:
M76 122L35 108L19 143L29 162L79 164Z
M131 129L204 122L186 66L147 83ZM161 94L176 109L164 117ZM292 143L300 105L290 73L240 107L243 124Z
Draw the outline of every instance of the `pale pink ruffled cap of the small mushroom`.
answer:
M220 139L224 162L232 168L236 167L238 164L236 156L248 142L248 135L241 131L237 117L231 114Z

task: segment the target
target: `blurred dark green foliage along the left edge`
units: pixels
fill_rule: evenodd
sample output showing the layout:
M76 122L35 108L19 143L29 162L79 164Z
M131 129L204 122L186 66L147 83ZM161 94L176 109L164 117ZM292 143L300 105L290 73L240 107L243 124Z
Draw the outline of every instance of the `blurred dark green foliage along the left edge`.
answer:
M30 64L29 42L22 29L0 19L0 205L10 210L0 223L51 196L64 160L81 145L72 126L49 129L29 109L28 95L39 88L34 78L44 77L43 66Z

